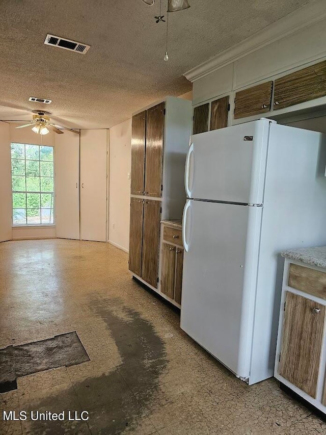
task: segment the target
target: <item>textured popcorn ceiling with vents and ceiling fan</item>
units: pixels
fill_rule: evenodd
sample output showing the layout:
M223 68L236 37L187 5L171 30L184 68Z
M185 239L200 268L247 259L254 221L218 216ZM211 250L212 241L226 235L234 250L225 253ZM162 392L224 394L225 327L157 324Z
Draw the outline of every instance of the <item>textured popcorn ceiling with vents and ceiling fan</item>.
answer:
M189 0L156 24L159 2L1 0L0 119L48 110L61 125L106 128L165 95L191 89L188 69L309 0ZM166 10L167 0L162 0ZM47 33L91 45L86 55L44 45ZM50 105L31 103L49 98Z

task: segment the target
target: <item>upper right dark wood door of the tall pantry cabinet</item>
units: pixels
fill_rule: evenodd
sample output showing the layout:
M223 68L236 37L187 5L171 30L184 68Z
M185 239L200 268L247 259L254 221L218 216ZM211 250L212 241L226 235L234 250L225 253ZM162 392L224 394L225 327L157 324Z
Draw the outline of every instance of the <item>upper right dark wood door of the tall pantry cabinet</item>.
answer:
M147 111L145 195L161 196L165 103Z

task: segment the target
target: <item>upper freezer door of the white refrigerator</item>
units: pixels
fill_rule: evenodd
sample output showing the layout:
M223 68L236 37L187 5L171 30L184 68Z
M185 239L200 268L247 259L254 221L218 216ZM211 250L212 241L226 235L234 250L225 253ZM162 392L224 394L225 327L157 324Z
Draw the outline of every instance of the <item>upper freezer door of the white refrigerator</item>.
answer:
M261 119L192 136L185 171L188 198L262 203L269 125Z

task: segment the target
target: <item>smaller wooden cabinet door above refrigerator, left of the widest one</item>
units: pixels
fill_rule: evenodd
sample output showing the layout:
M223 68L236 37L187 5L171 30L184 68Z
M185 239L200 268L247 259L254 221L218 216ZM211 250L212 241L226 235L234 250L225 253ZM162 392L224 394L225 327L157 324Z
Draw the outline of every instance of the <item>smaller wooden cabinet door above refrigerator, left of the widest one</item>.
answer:
M262 83L235 94L234 118L259 115L269 112L273 82Z

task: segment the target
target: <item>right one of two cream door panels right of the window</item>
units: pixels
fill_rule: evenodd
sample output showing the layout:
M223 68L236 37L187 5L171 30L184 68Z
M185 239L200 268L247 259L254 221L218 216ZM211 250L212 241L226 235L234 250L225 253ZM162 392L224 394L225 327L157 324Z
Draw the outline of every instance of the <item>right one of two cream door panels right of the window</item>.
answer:
M80 131L80 239L106 242L107 130Z

